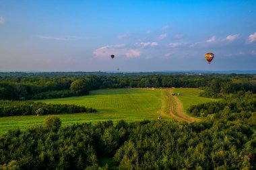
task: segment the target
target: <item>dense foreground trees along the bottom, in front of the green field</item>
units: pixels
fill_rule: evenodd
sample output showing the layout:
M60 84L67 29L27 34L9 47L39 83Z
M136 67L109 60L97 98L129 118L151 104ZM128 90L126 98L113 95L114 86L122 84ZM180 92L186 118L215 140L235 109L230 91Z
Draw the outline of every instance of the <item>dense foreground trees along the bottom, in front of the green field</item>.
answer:
M119 121L10 130L0 138L2 169L253 169L252 114L205 122ZM255 120L255 116L254 116ZM107 159L102 163L102 159Z

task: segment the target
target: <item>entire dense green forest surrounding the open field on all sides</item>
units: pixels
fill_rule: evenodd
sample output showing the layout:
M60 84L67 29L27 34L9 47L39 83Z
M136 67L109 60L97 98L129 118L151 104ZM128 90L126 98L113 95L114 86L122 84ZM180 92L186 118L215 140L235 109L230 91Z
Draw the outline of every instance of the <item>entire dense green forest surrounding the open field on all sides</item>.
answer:
M96 112L22 100L129 87L198 87L201 96L221 99L192 105L187 112L203 121L191 124L61 126L58 116L48 116L42 125L0 136L0 169L256 169L256 75L0 73L0 113Z

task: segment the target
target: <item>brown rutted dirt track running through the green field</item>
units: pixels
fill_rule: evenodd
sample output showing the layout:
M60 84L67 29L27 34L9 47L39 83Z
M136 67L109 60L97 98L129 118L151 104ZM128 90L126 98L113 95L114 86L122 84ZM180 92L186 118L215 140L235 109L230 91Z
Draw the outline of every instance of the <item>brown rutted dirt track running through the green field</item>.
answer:
M172 89L168 89L168 98L170 99L170 116L179 121L185 121L189 123L199 122L199 119L187 116L187 114L183 112L183 105L181 100L179 100L177 96L172 95L172 93Z

